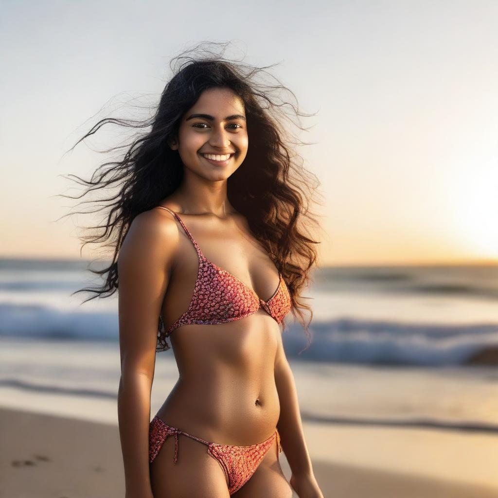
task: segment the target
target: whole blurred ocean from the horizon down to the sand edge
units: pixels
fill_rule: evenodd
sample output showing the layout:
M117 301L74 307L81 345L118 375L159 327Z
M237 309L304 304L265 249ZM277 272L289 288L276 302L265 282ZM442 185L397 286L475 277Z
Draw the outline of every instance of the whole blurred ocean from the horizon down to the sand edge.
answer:
M71 296L96 285L88 266L0 259L0 404L116 420L117 293ZM303 419L498 433L498 369L479 361L498 348L498 266L319 268L313 280L311 346L299 353L292 319L283 335ZM177 374L171 350L158 353L152 410Z

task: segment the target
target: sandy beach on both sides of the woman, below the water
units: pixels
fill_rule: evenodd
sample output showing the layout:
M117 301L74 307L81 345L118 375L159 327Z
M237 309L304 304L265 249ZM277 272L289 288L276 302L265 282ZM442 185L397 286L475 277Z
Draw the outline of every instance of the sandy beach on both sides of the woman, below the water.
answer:
M124 497L116 424L1 408L0 427L0 497ZM327 498L498 496L498 483L495 482L496 487L483 484L495 475L491 453L486 454L494 451L496 457L498 440L494 435L331 427L315 423L305 423L305 432L315 475ZM403 441L406 444L396 448L392 445L393 437L398 445ZM446 440L438 441L438 438ZM373 446L380 440L386 441L382 451ZM417 440L418 447L410 447ZM420 458L424 440L431 445L431 453L425 460ZM360 451L362 447L363 451ZM448 458L455 451L462 452L458 459L462 469L472 460L484 469L481 475L474 473L470 478L469 472L460 472L461 469L454 464L456 459ZM352 454L358 457L354 465L351 464ZM376 458L376 455L380 457ZM280 461L285 476L289 478L290 471L283 453ZM372 465L374 461L376 465ZM389 461L390 470L387 468ZM441 472L444 467L449 468ZM441 478L444 475L446 479Z

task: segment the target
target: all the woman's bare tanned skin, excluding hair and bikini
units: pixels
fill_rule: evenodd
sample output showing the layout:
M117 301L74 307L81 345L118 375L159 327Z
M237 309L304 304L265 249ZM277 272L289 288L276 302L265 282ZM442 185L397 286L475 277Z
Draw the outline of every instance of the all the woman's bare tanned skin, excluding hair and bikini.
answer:
M202 93L169 143L180 154L184 180L160 204L179 214L209 260L268 299L278 271L227 199L227 179L248 150L244 117L244 103L231 90ZM220 166L203 153L233 155ZM175 464L174 438L168 437L148 463L157 320L160 315L167 330L187 309L198 265L192 242L171 213L154 208L133 220L118 258L125 498L229 497L223 470L198 441L180 435ZM291 498L292 488L299 498L323 498L281 335L281 327L261 308L233 322L186 325L169 337L179 378L158 411L162 420L207 441L239 446L264 441L278 428L292 470L290 485L275 440L236 498Z

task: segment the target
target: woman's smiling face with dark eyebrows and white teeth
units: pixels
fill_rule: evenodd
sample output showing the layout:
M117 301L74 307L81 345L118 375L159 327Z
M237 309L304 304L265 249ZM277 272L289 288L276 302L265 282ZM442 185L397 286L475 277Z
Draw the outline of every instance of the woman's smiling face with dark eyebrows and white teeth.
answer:
M177 140L186 169L213 181L227 179L246 158L248 133L244 102L228 88L205 90L184 114Z

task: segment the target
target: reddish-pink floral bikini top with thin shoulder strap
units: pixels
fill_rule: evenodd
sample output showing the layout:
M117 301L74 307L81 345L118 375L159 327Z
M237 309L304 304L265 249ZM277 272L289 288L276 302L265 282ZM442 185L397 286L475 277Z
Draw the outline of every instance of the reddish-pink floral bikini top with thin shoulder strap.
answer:
M283 321L291 309L291 298L281 273L279 273L278 286L273 295L267 301L260 299L235 275L220 268L204 256L183 221L174 211L164 206L157 207L169 211L180 222L199 256L199 272L190 305L187 311L171 325L166 332L166 337L183 325L233 322L253 315L261 307L277 323Z

